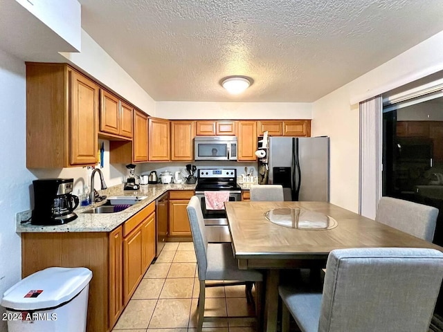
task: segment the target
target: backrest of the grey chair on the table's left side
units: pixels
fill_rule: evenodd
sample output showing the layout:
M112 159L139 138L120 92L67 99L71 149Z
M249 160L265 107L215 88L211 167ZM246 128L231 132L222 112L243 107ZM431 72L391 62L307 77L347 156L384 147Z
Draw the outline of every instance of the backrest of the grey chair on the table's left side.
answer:
M201 212L201 205L197 196L191 197L186 210L188 210L188 219L191 226L192 241L194 242L195 255L197 256L199 280L205 280L206 269L208 268L208 239L205 233L205 221L203 217L203 212Z

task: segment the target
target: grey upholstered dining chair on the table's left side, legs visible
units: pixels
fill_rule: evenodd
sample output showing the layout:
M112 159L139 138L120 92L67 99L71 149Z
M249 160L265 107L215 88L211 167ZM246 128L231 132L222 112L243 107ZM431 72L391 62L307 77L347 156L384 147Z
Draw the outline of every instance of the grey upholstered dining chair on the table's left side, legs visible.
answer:
M192 241L194 242L195 254L197 256L197 268L199 274L200 294L198 308L197 332L201 332L204 322L211 322L222 317L206 317L205 291L206 287L230 286L255 282L255 321L257 326L261 326L260 317L262 315L262 280L263 275L257 270L239 270L237 260L233 255L230 243L208 243L206 237L205 223L201 206L197 196L192 196L188 206L188 218L191 226ZM224 282L217 284L206 284L206 281L235 280L236 282ZM245 317L230 317L241 318Z

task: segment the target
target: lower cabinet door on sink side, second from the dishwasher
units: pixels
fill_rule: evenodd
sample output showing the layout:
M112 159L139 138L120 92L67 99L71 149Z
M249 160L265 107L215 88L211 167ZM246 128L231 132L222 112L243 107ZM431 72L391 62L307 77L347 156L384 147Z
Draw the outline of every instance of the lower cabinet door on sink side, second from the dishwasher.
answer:
M123 303L126 305L143 277L141 227L123 239Z

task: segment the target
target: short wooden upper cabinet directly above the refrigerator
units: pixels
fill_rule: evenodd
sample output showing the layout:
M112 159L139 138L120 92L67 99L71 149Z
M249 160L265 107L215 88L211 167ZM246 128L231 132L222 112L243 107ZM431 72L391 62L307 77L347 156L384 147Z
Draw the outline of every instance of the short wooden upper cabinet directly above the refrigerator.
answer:
M268 131L270 136L311 136L311 120L260 120L258 136Z

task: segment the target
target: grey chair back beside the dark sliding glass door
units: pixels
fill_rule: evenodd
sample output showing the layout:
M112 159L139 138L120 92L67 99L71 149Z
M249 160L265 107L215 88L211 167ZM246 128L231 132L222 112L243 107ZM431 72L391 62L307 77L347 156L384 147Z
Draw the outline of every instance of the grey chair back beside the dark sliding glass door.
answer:
M392 197L381 197L375 221L432 242L437 216L437 208Z

